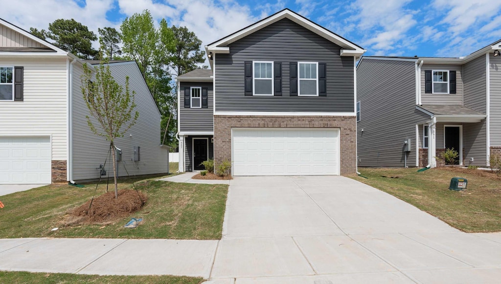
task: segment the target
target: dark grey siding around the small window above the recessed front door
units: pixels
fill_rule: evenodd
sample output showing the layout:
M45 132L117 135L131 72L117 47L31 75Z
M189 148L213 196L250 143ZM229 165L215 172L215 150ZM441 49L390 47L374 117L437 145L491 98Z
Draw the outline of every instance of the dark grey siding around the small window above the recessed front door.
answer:
M207 108L184 107L184 93L180 94L179 131L214 131L214 96L212 83L180 82L183 87L207 87Z

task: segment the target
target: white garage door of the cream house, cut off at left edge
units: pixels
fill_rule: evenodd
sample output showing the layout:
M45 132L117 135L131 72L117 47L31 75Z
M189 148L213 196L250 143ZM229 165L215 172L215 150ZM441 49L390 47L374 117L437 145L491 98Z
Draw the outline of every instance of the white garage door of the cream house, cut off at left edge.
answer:
M50 137L0 137L0 184L50 183Z

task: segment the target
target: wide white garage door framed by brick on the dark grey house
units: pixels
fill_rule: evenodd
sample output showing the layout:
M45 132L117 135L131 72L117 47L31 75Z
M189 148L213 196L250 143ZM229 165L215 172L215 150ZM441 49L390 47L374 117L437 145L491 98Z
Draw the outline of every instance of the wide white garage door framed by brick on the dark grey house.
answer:
M232 128L234 176L339 175L339 129Z

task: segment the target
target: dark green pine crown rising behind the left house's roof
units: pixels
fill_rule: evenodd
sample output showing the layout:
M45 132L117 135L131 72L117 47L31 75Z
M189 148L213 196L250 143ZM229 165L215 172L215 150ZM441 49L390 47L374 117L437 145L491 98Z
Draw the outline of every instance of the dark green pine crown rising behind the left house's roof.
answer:
M97 40L96 34L74 19L58 19L49 24L49 31L34 28L30 31L39 38L55 41L55 46L82 59L93 59L98 55L98 51L92 48L92 42Z

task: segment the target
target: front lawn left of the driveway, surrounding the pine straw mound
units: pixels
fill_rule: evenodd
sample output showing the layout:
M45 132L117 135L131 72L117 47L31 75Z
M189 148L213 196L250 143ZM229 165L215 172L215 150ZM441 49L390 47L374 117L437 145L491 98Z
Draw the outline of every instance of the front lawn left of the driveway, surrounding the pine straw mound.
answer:
M84 188L53 184L2 196L5 208L0 209L0 238L221 238L227 185L138 180L121 180L119 189L132 188L131 183L136 182L136 188L148 195L148 202L140 211L111 224L65 226L68 211L88 201L95 184ZM97 195L105 188L106 184L100 185ZM124 228L131 217L143 218L143 224ZM59 230L52 232L55 227Z

